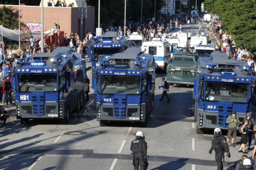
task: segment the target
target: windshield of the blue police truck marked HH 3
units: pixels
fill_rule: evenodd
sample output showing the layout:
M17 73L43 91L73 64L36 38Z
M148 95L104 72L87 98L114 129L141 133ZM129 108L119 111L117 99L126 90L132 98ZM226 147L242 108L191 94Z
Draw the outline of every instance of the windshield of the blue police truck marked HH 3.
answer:
M206 82L206 101L247 102L248 84Z

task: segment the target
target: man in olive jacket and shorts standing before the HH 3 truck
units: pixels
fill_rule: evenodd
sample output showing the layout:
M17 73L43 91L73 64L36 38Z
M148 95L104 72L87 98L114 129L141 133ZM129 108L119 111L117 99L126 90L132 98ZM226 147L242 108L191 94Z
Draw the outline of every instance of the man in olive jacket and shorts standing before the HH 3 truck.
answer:
M236 116L236 111L233 111L227 118L226 123L228 124L228 139L227 143L231 139L231 146L234 146L234 140L236 139L237 126L240 124L239 118Z

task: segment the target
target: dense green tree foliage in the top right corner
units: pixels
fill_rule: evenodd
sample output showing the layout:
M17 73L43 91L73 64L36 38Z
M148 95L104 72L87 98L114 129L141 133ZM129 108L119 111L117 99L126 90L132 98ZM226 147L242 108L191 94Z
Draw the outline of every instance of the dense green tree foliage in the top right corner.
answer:
M256 52L256 0L205 0L205 8L220 16L221 27L237 46Z

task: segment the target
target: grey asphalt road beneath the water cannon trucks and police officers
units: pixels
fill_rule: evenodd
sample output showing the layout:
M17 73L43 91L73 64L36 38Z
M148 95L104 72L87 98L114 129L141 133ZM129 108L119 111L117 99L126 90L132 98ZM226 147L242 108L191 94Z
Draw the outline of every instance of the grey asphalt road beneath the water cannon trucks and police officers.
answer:
M182 29L193 31L198 24ZM156 87L165 76L166 73L157 73ZM92 77L91 70L88 77ZM96 121L93 94L84 108L72 115L69 125L54 120L32 120L30 125L21 125L11 117L6 126L0 125L0 169L133 169L130 144L140 130L147 138L148 169L216 170L214 152L208 154L213 133L201 135L195 131L192 93L193 86L170 86L171 102L167 104L166 99L158 100L162 90L156 88L147 128L127 123L101 127ZM240 160L239 141L240 137L236 139L236 148L230 147L231 158L226 157L224 169L234 169ZM252 156L252 150L248 155Z

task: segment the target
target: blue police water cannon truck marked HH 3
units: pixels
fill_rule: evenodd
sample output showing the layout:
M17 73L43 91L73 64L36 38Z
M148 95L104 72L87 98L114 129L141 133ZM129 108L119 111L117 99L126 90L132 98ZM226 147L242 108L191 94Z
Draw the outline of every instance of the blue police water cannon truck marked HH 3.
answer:
M193 93L197 133L228 129L226 119L233 111L240 122L251 112L256 86L252 70L247 62L229 58L226 53L213 52L210 57L199 58Z

